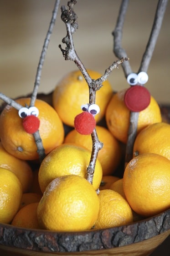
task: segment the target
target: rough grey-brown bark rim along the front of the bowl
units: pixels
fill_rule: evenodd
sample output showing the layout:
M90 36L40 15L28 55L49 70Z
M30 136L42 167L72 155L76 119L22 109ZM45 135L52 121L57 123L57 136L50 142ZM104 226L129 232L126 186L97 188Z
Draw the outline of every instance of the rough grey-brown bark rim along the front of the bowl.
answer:
M0 245L39 252L96 251L141 242L168 230L170 230L170 208L131 224L80 232L25 229L10 224L0 224Z

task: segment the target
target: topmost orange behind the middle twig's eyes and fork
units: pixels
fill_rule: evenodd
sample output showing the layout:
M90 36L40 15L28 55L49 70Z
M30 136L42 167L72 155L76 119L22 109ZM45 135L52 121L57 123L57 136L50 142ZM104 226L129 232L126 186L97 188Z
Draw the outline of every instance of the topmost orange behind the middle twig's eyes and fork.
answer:
M96 71L88 70L92 79L101 77ZM108 101L112 97L113 89L110 83L103 82L103 87L96 92L96 104L100 112L95 116L96 122L105 115ZM53 107L56 109L63 123L74 126L74 118L82 112L81 106L89 102L88 84L80 70L72 71L60 80L53 92Z

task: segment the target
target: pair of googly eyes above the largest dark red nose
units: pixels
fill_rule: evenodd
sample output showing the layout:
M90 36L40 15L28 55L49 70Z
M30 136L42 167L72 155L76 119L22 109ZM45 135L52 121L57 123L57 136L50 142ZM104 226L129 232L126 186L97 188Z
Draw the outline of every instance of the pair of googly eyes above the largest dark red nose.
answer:
M131 73L127 77L127 82L129 85L144 85L148 81L148 74L146 72L140 72L138 75L136 73Z

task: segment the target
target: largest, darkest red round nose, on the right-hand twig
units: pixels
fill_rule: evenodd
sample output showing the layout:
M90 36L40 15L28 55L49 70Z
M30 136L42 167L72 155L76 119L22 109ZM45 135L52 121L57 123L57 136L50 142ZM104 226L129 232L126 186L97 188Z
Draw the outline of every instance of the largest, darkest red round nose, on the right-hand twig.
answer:
M125 92L124 103L130 111L140 112L149 106L150 93L144 86L131 86Z

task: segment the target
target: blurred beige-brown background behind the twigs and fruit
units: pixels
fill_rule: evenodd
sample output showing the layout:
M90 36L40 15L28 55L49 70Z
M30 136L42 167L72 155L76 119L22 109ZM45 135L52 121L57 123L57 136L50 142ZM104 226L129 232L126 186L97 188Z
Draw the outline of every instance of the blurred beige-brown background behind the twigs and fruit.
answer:
M0 91L10 97L31 93L42 45L55 0L0 0ZM79 28L74 44L83 64L103 74L117 60L113 54L112 31L120 0L78 0L75 12ZM61 0L62 5L67 1ZM124 24L123 47L134 72L139 64L153 24L157 0L130 0ZM65 61L58 45L66 35L64 23L57 16L39 92L51 92L69 71L77 69ZM65 45L62 45L63 47ZM146 87L157 101L170 103L170 3L156 43ZM128 87L122 68L109 76L114 90Z

